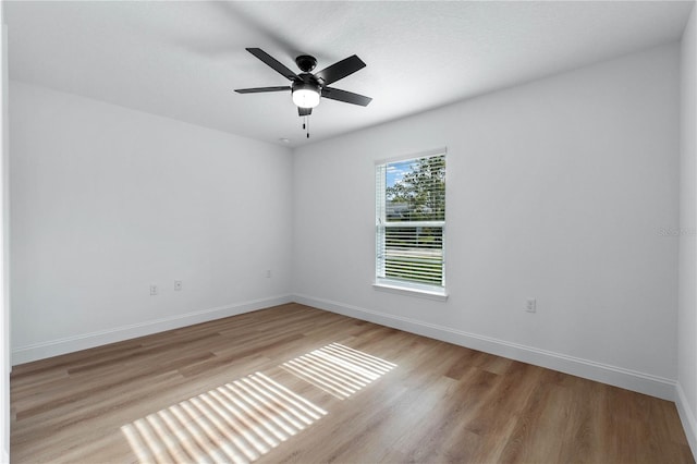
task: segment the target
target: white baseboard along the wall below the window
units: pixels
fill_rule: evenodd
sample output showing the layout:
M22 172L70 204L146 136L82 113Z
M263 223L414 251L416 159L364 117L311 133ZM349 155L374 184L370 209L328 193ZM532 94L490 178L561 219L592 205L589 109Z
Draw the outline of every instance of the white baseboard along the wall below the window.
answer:
M663 400L675 400L675 381L663 377L638 373L622 367L610 366L594 361L582 359L561 353L539 350L533 346L511 343L504 340L478 335L476 333L468 333L420 320L388 315L371 309L365 309L308 295L296 294L294 301L307 306L314 306L332 313L342 314L344 316L380 323L382 326L392 327L406 332L521 361L523 363L547 367L549 369L649 394Z

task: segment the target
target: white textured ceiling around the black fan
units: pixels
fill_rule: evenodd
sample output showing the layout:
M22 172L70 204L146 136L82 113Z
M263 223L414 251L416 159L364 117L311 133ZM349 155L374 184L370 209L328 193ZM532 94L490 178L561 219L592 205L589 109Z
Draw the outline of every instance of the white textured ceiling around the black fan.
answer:
M678 40L694 1L7 1L10 77L260 141L316 142L496 88ZM305 139L288 85L245 47L296 71L351 54L332 84L374 98L323 99Z

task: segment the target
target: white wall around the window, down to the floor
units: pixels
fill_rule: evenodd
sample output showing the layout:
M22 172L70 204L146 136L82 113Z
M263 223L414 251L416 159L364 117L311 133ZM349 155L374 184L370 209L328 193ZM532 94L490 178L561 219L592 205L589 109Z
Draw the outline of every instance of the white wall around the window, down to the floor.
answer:
M678 227L678 53L297 149L296 300L672 399L677 239L661 231ZM376 291L374 161L442 146L450 298Z

